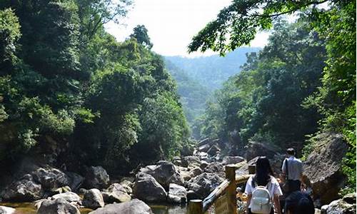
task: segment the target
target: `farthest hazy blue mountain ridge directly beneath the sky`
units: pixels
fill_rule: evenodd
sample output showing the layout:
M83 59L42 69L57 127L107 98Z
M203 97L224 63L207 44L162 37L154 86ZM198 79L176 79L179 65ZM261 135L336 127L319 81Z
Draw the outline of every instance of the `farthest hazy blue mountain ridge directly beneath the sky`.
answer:
M193 81L206 86L209 91L221 88L222 83L228 77L240 71L240 66L246 62L246 54L258 52L260 48L242 47L227 54L226 56L201 56L197 58L187 58L182 56L164 56L166 60L186 72L186 75Z

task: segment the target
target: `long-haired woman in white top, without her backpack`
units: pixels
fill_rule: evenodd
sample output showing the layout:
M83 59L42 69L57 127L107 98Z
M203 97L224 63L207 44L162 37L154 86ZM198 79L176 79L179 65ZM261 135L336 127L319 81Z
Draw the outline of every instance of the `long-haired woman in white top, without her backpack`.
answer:
M273 177L273 170L268 158L259 157L256 161L256 174L251 176L246 183L246 190L244 191L248 195L246 213L251 213L251 197L253 190L256 186L265 186L271 195L271 201L273 201L276 213L281 214L279 196L283 195L280 185L276 178ZM271 213L274 213L271 208Z

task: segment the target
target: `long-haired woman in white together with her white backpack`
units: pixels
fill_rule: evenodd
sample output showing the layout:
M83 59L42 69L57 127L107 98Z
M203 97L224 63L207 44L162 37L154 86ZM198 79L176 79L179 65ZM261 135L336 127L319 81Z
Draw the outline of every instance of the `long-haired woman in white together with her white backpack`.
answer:
M246 213L276 213L281 214L279 195L283 195L280 185L273 177L273 170L266 157L256 161L256 174L246 183L247 208ZM273 201L273 203L272 203Z

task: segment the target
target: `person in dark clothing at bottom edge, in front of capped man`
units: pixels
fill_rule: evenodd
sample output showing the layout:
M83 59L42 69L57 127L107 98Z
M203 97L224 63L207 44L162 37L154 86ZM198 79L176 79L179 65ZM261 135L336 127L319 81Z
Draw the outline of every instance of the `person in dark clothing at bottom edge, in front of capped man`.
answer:
M284 213L286 214L314 214L313 200L310 195L295 191L285 199Z

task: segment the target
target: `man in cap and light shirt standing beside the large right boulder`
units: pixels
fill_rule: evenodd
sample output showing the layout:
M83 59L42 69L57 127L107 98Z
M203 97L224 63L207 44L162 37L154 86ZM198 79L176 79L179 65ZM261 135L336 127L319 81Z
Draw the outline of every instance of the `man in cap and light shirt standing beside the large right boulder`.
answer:
M295 158L295 150L288 148L286 150L288 158L283 161L283 177L285 177L285 183L283 185L284 195L288 195L294 191L298 191L301 188L301 175L303 173L303 163Z

